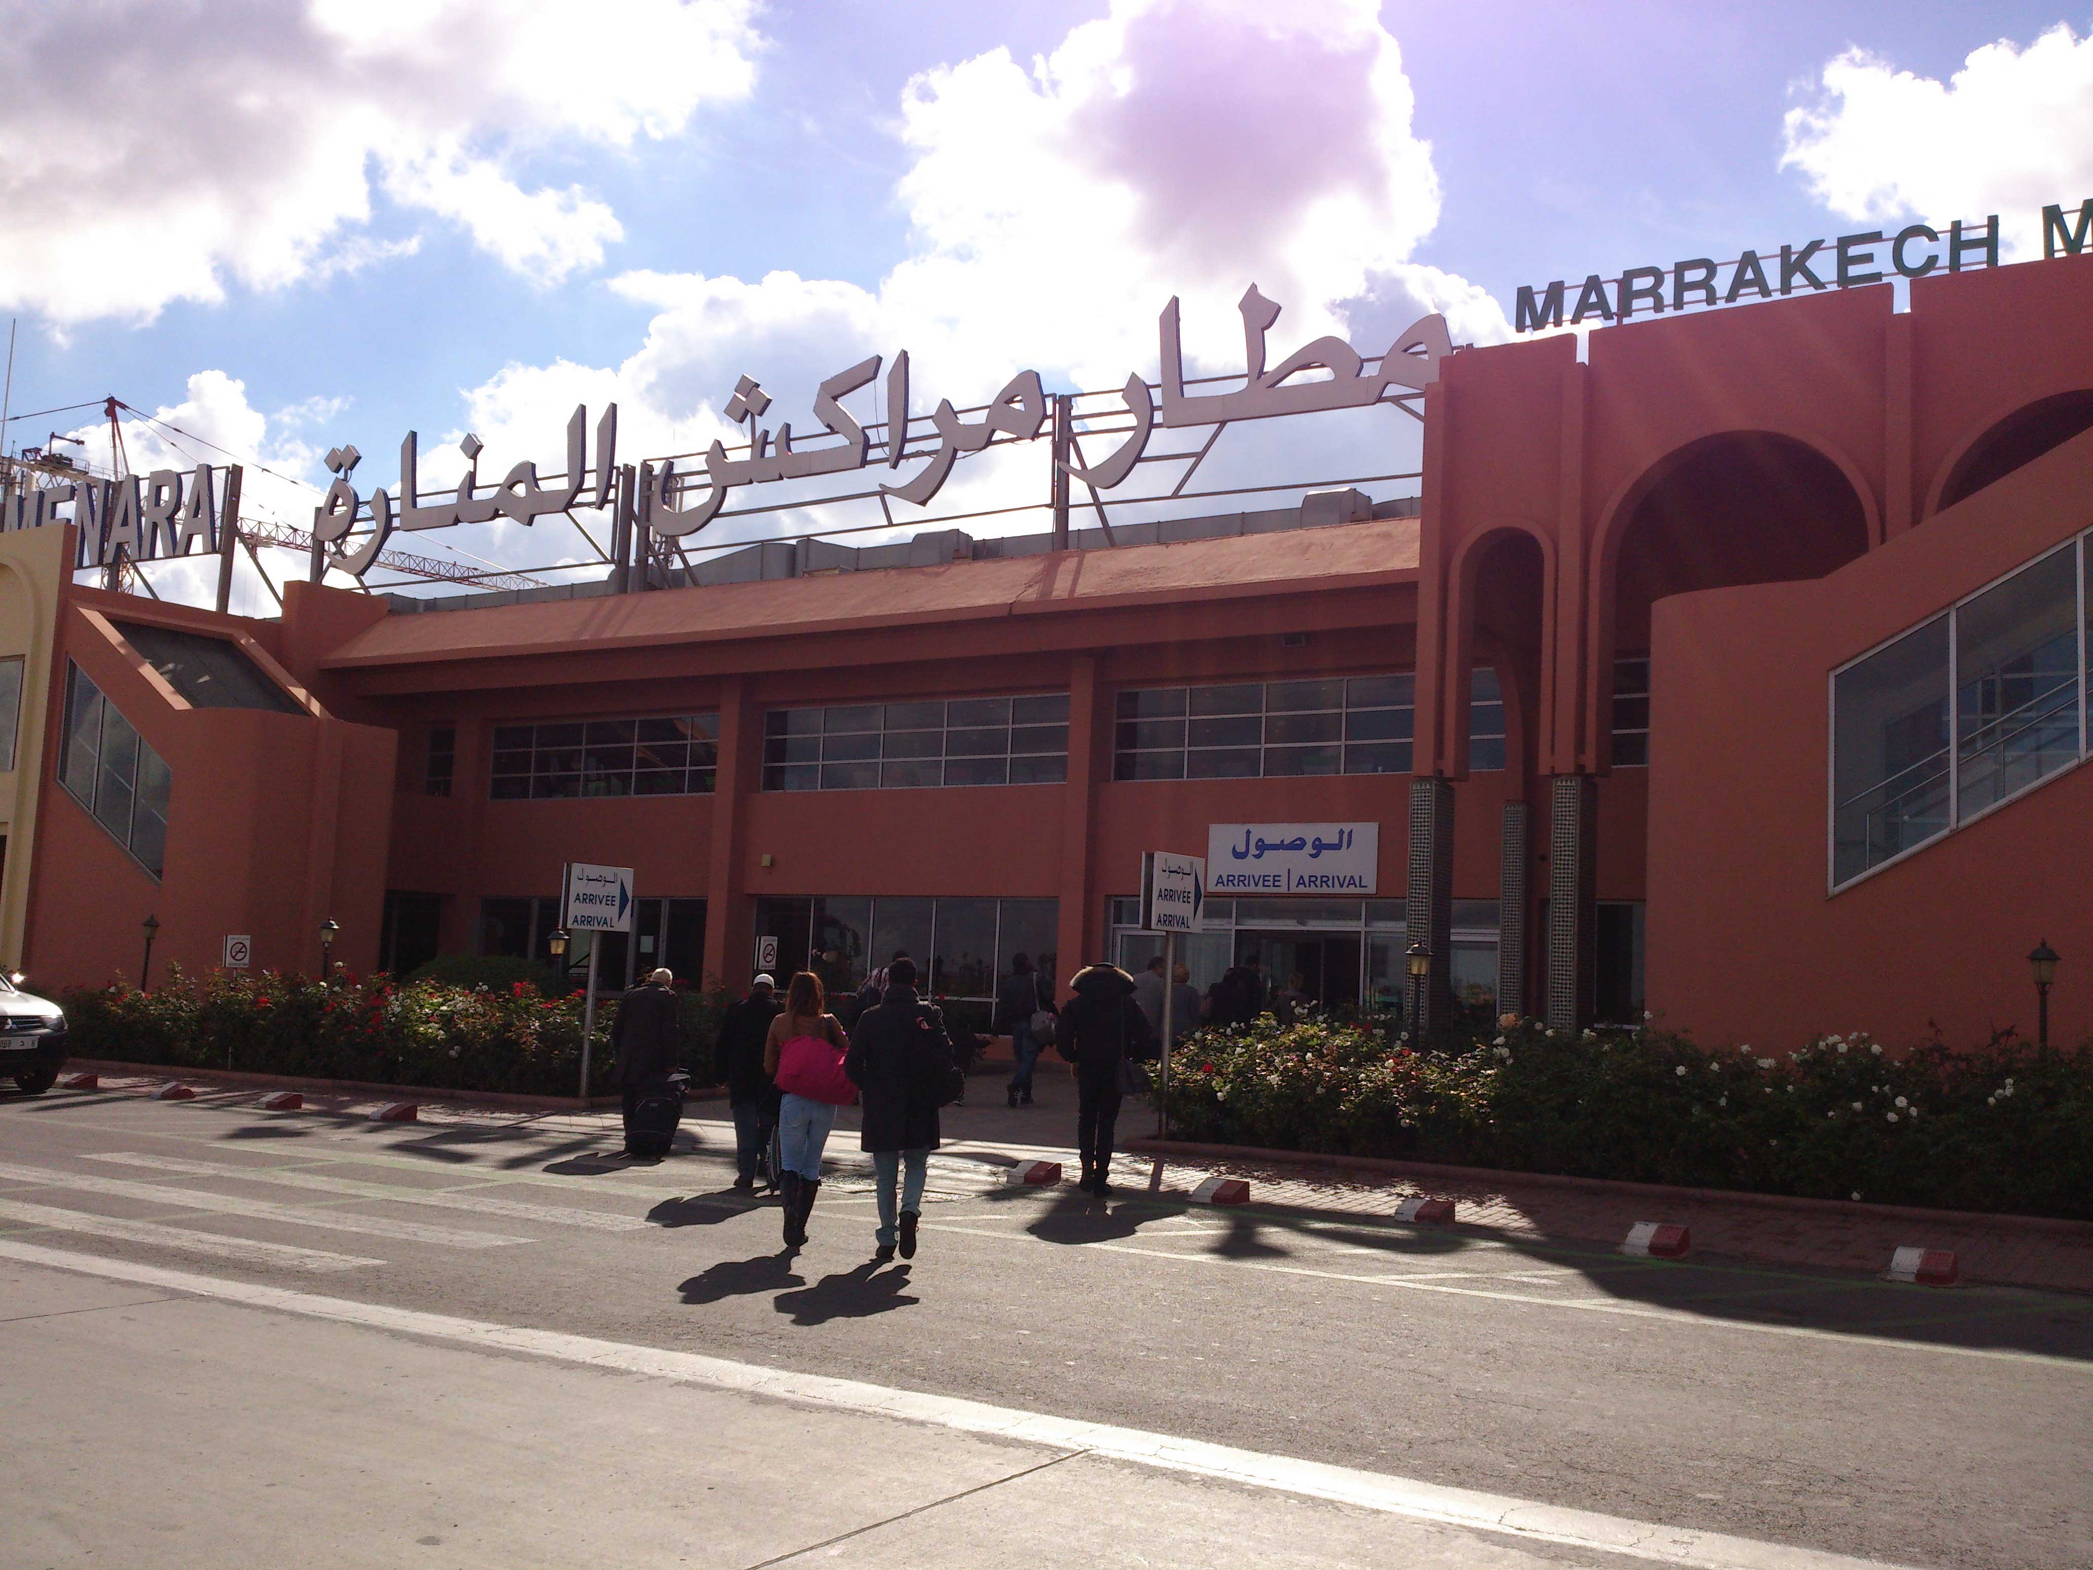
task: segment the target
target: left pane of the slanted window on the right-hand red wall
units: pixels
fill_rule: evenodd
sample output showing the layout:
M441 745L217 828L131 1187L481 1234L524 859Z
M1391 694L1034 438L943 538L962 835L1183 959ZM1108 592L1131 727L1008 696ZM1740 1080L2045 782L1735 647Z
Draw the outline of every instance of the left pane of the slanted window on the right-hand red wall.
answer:
M1936 615L1831 685L1831 881L1949 827L1949 618Z

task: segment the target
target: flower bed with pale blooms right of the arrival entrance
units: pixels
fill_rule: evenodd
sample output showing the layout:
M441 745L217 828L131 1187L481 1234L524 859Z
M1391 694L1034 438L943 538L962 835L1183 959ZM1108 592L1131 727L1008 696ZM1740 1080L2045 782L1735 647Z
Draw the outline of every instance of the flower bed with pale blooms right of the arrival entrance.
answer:
M2093 1218L2093 1047L1863 1036L1716 1053L1530 1019L1413 1051L1270 1017L1172 1053L1183 1139L1825 1199Z

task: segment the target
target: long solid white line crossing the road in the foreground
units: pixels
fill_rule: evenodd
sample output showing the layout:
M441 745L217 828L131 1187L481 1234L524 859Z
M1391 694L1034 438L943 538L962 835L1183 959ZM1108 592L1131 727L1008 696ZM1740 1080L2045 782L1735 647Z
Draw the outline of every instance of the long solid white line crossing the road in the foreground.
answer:
M1051 1417L1046 1413L992 1407L959 1396L931 1396L919 1390L896 1390L860 1380L766 1369L758 1363L735 1363L701 1352L672 1352L659 1346L630 1346L592 1336L567 1336L563 1331L496 1325L481 1319L456 1319L452 1315L431 1315L377 1302L322 1298L289 1287L220 1281L209 1275L165 1271L130 1260L88 1258L63 1250L38 1248L36 1243L0 1239L0 1258L239 1302L249 1308L324 1319L339 1325L421 1336L481 1352L521 1352L555 1363L580 1363L651 1380L705 1386L707 1390L791 1400L869 1417L892 1417L959 1434L988 1434L1065 1453L1103 1455L1162 1472L1214 1478L1304 1499L1325 1499L1388 1516L1438 1522L1442 1526L1499 1532L1589 1551L1624 1553L1656 1564L1691 1566L1693 1570L1890 1570L1880 1560L1854 1560L1844 1553L1758 1543L1725 1532L1695 1532L1679 1526L1626 1520L1622 1516L1601 1516L1589 1509L1540 1505L1471 1488L1442 1488L1381 1472L1239 1451L1229 1444L1208 1444L1203 1440L1151 1434L1113 1423Z

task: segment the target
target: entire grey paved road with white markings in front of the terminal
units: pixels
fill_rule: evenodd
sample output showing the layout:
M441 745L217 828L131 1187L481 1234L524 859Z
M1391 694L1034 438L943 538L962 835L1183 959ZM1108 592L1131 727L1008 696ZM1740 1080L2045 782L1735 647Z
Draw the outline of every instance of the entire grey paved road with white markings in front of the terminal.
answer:
M2083 1298L1197 1210L1132 1162L1097 1204L977 1149L875 1269L854 1141L787 1254L691 1135L0 1101L4 1421L57 1436L0 1564L289 1520L312 1564L2093 1564Z

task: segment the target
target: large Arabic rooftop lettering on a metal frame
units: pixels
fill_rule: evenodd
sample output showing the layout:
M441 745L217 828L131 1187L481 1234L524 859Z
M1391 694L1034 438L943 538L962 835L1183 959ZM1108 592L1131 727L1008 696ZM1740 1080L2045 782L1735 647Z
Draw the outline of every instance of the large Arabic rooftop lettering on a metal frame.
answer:
M1337 337L1319 337L1277 366L1266 368L1264 335L1279 320L1279 306L1252 285L1237 310L1243 316L1245 356L1245 385L1239 391L1203 396L1185 391L1178 301L1172 299L1160 318L1162 408L1157 410L1149 383L1139 373L1130 375L1126 387L1120 389L1120 400L1134 419L1132 431L1101 463L1090 467L1063 463L1061 467L1093 490L1109 490L1132 473L1157 425L1166 429L1218 427L1275 414L1365 408L1388 398L1390 387L1423 391L1438 377L1440 360L1453 354L1446 320L1425 316L1396 337L1373 371L1350 343ZM737 425L747 423L747 454L730 458L726 444L714 442L703 465L689 475L678 473L674 458L655 458L640 463L636 471L630 467L620 471L615 404L597 421L594 463L588 463L590 454L586 452L588 410L584 406L573 410L573 419L567 421L565 479L550 486L538 479L536 465L519 463L498 484L483 490L477 471L481 444L467 435L458 448L469 467L458 479L456 492L423 500L417 481L419 438L408 431L400 444L398 502L383 490L364 500L358 498L350 477L360 454L354 446L335 448L327 454L327 467L335 473L335 481L314 509L312 534L324 546L337 546L358 523L368 523L368 534L362 536L356 551L329 551L331 567L362 578L396 530L440 530L454 523L490 523L498 517L532 523L546 513L565 513L573 507L611 507L624 484L630 488L636 523L659 536L682 538L712 523L726 498L739 488L839 475L879 461L890 471L919 461L921 467L913 475L898 484L881 481L879 492L915 507L927 507L963 454L986 450L998 435L1011 442L1030 442L1046 427L1049 406L1040 375L1038 371L1021 371L988 402L980 419L961 419L950 400L940 400L929 414L936 442L931 444L921 431L910 438L908 352L902 350L887 366L887 429L885 440L875 450L871 433L843 408L843 398L869 387L879 377L881 364L881 356L875 354L820 383L814 394L814 419L820 421L825 435L837 440L814 448L795 446L789 423L774 431L762 429L758 421L770 408L770 396L753 377L741 377L724 412ZM1329 375L1314 381L1293 381L1308 371ZM689 494L693 490L695 498Z

